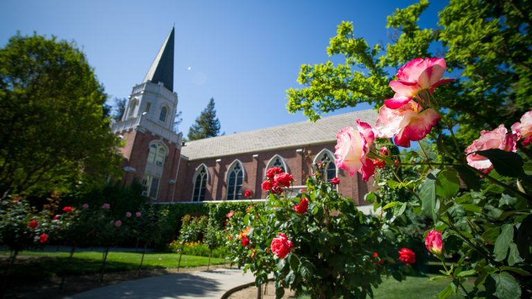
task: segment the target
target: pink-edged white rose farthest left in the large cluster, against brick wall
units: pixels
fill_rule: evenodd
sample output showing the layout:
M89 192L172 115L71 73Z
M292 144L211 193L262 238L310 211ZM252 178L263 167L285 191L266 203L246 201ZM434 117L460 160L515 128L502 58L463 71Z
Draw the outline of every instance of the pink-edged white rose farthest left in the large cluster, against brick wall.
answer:
M336 138L336 166L348 171L351 176L355 172L360 172L362 180L367 181L375 173L373 161L366 157L369 147L375 141L371 126L357 120L357 129L346 127L338 132Z

